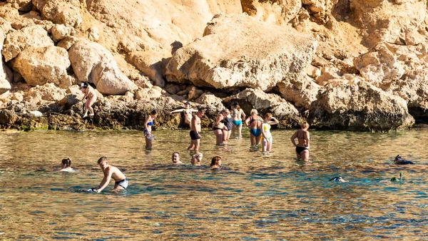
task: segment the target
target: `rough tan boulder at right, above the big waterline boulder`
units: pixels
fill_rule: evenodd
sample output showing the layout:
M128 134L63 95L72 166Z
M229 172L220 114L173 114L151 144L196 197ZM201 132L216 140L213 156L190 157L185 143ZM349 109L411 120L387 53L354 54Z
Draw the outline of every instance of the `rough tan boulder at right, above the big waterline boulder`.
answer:
M361 76L374 83L384 79L398 79L404 74L397 56L384 43L379 43L370 52L355 58L354 63Z

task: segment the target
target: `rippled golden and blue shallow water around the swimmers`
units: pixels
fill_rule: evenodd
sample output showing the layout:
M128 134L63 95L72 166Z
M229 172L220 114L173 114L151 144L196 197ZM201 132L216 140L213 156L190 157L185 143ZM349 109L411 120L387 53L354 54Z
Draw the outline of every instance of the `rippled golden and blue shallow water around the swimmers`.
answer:
M273 130L274 153L250 151L248 132L216 147L203 132L191 167L188 130L0 133L0 240L426 240L428 130L311 131L310 162L295 159L291 130ZM187 165L169 165L173 151ZM395 155L416 165L392 165ZM96 160L129 179L103 193ZM223 157L222 170L209 170ZM61 173L71 158L77 173ZM379 183L403 171L402 183ZM349 183L328 180L342 175Z

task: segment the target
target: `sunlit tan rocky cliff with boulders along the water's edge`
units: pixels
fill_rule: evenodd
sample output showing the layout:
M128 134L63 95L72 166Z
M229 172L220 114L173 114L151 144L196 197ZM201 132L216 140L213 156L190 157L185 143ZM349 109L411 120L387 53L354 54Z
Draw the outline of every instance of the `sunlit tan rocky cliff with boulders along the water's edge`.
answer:
M428 121L427 24L426 0L0 1L0 127L138 129L157 109L176 128L183 101L207 127L239 101L286 128L409 128Z

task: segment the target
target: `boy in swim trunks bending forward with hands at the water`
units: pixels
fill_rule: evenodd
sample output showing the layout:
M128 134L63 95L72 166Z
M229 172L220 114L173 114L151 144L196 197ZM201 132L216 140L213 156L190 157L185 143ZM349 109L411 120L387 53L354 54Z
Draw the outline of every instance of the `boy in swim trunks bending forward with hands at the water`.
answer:
M113 167L113 165L109 165L105 156L98 159L98 165L101 167L101 170L103 170L104 178L100 185L98 185L98 188L93 188L93 191L101 193L101 191L107 187L108 183L110 183L111 178L115 181L114 191L128 188L128 179L126 179L121 170Z

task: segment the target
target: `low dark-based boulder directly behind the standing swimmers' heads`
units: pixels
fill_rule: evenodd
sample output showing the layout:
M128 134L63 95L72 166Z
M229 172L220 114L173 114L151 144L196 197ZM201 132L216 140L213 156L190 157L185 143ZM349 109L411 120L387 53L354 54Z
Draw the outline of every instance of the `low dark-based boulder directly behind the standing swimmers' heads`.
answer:
M238 101L240 107L247 115L250 114L251 109L258 110L260 116L271 112L273 116L280 120L281 125L285 127L290 128L302 121L300 113L295 106L274 93L265 93L258 89L247 88L245 91L225 98L223 104L230 106L235 101Z

